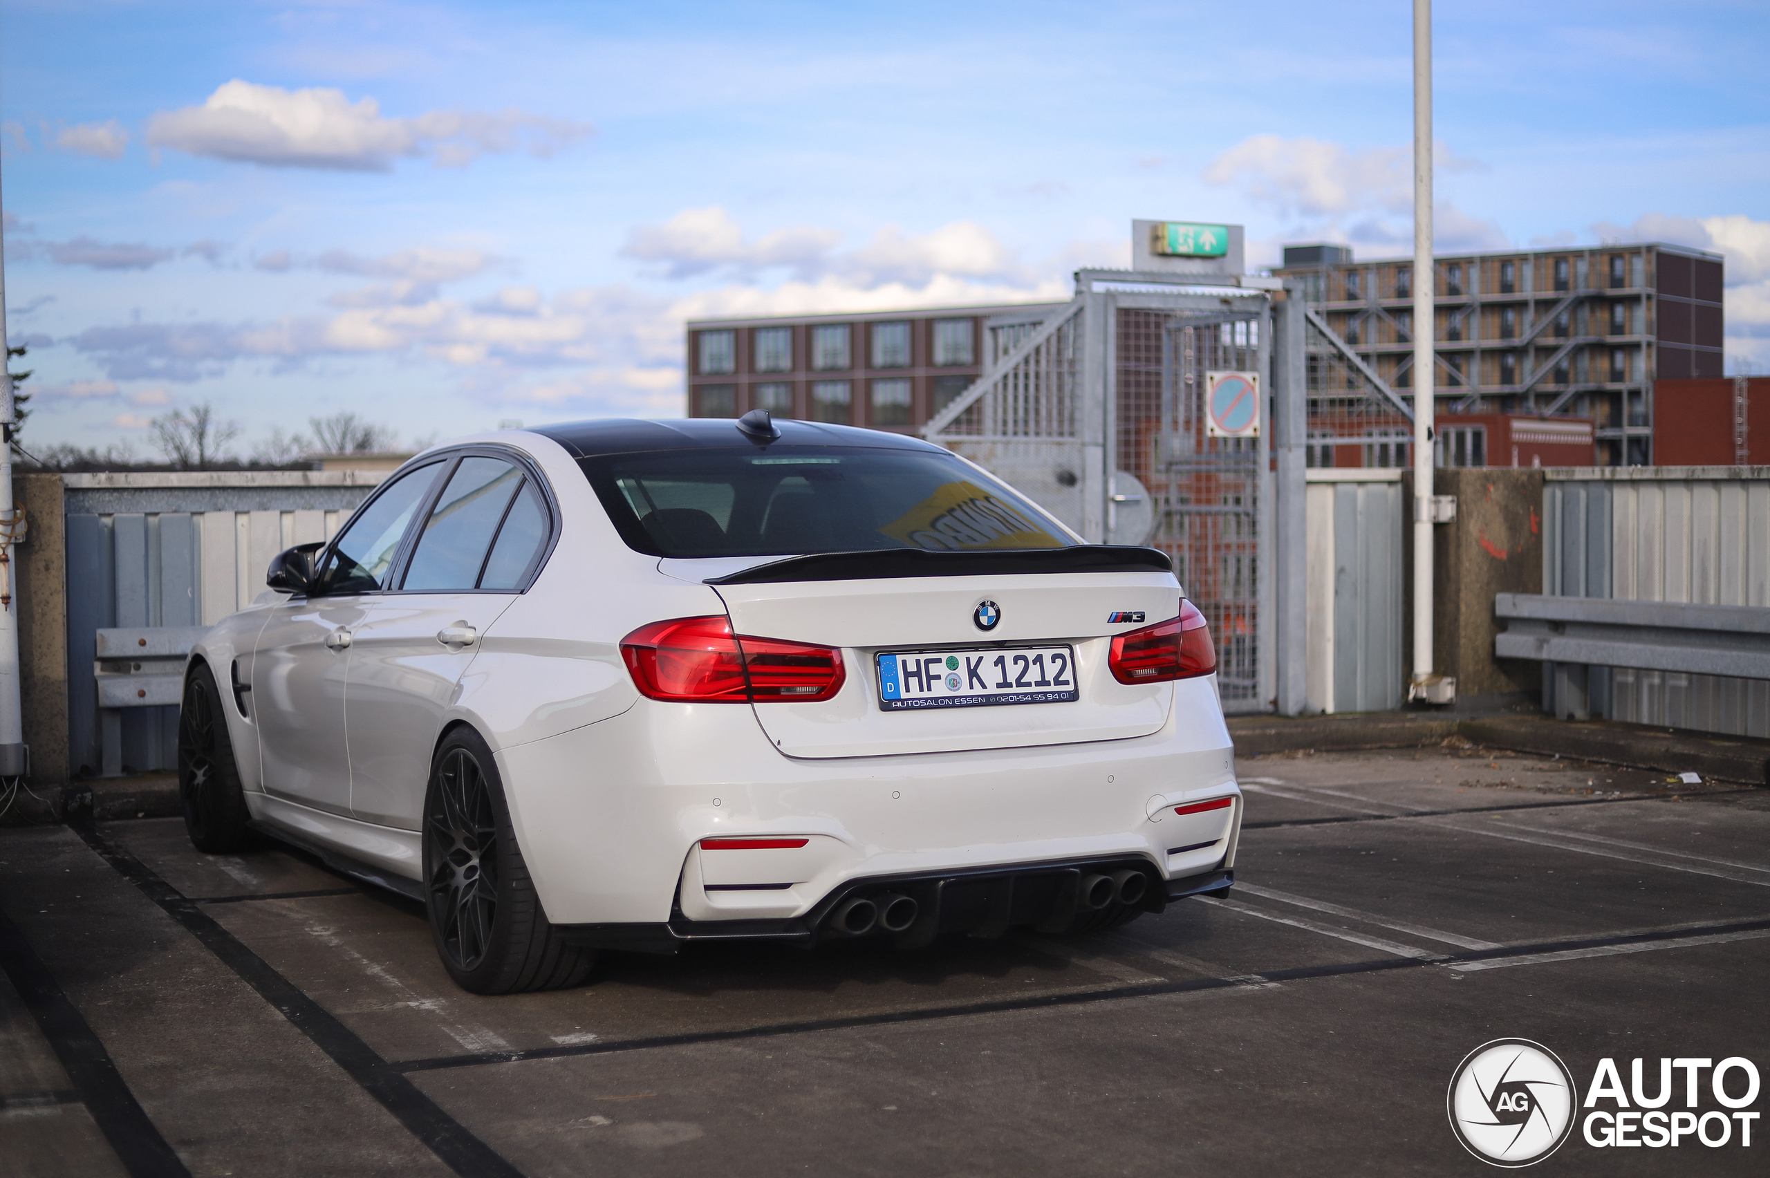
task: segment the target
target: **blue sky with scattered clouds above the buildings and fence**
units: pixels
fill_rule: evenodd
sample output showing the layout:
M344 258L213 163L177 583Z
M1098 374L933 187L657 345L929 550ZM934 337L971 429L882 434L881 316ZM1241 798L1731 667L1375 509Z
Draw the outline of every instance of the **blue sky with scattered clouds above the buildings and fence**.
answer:
M0 0L23 444L681 416L687 318L1066 299L1133 218L1400 256L1411 9ZM1434 21L1439 249L1715 249L1770 373L1770 5Z

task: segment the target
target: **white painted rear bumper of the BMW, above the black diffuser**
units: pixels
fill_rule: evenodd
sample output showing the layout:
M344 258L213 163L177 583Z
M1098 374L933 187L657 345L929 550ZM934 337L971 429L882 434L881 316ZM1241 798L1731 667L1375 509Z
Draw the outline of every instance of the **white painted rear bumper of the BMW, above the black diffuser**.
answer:
M804 920L858 881L1136 860L1154 881L1235 865L1234 748L1209 683L1149 736L901 757L795 759L750 709L643 700L497 752L529 874L558 925ZM1232 808L1177 815L1177 803ZM802 853L703 851L798 837Z

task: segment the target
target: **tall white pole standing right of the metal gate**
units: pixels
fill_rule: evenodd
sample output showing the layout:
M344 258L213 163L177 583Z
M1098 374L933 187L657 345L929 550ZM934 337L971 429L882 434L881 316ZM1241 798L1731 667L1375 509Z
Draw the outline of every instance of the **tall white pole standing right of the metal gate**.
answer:
M1439 699L1432 674L1432 0L1414 0L1414 674L1409 699Z

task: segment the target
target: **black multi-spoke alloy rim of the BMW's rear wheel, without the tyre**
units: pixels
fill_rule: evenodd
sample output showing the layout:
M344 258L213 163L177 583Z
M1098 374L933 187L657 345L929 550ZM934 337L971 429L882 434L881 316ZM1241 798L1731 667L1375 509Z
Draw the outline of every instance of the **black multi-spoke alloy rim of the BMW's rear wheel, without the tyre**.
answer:
M448 964L471 973L485 960L497 922L497 817L480 762L458 745L437 761L425 833L437 943Z

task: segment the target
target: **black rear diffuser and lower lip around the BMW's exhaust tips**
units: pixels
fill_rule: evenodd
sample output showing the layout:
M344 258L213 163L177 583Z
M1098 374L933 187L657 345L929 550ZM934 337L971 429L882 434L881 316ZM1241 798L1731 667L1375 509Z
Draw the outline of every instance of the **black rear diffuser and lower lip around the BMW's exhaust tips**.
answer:
M804 916L788 920L689 920L678 911L667 922L561 925L572 945L635 953L674 953L690 941L784 941L809 945L846 939L832 916L853 899L906 895L915 899L915 922L885 932L899 948L917 948L942 934L1002 936L1009 929L1057 930L1076 914L1078 886L1090 874L1115 868L1142 870L1158 890L1140 906L1159 913L1170 902L1195 895L1221 895L1235 883L1234 870L1209 870L1181 879L1156 881L1152 865L1136 860L1090 860L1085 863L1025 863L1009 870L977 868L933 876L881 876L855 879L837 888Z

